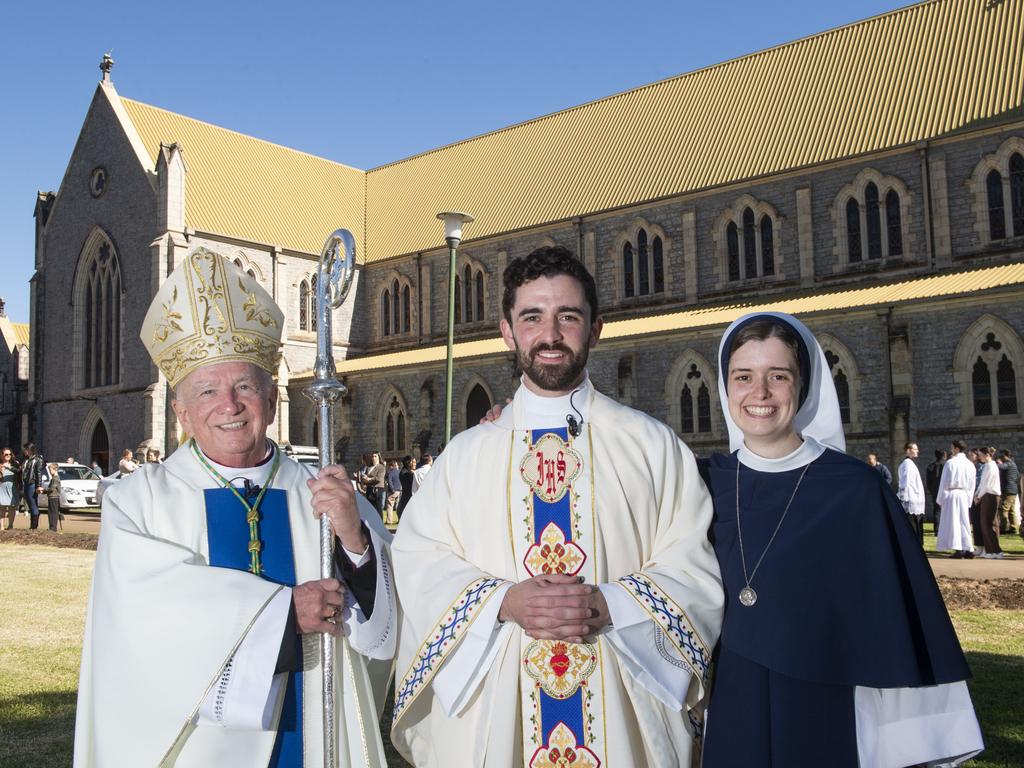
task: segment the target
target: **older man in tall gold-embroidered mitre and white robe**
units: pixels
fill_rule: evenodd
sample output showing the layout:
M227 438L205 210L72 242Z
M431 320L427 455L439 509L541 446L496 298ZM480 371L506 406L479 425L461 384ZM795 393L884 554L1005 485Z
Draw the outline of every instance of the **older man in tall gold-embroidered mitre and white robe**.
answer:
M266 438L282 327L258 283L205 249L154 299L142 341L191 438L103 497L77 768L322 766L322 633L339 765L386 764L390 537L343 467L314 475ZM319 578L322 515L336 579Z

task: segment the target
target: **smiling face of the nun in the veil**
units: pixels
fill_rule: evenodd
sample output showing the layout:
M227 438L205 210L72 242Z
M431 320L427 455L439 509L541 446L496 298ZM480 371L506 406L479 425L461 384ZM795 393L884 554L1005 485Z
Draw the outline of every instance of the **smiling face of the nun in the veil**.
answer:
M777 458L800 446L793 428L799 410L797 357L780 339L749 341L729 356L729 415L746 447Z

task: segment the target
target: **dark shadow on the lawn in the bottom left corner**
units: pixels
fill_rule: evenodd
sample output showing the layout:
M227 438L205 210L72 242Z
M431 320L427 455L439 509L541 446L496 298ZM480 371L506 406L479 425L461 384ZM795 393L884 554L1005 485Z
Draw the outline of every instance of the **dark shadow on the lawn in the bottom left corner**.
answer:
M27 693L0 707L0 765L68 768L75 741L76 691Z

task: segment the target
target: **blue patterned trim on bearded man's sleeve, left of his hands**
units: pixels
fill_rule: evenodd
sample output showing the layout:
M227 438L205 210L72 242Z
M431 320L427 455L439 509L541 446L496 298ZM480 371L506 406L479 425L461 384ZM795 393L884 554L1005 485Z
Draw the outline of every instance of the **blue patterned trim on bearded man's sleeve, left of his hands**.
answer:
M394 716L398 720L420 691L433 679L441 662L455 649L475 614L502 584L501 579L477 579L456 599L417 651L401 683L395 687Z

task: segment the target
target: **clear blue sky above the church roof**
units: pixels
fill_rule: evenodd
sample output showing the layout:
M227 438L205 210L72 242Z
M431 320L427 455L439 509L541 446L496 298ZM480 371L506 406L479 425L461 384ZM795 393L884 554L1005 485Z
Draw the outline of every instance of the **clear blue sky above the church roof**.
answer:
M0 296L29 319L35 195L60 185L108 50L124 96L366 169L904 5L9 3Z

